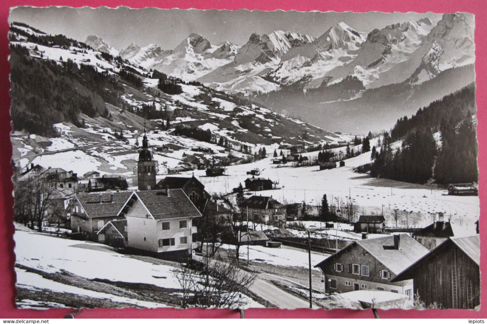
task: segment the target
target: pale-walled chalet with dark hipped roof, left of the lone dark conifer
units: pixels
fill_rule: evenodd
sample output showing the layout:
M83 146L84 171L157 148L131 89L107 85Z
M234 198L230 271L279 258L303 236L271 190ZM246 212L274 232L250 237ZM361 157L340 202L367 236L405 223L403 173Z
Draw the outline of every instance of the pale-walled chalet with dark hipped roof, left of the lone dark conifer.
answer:
M271 197L252 196L239 205L249 219L265 224L285 224L286 206Z

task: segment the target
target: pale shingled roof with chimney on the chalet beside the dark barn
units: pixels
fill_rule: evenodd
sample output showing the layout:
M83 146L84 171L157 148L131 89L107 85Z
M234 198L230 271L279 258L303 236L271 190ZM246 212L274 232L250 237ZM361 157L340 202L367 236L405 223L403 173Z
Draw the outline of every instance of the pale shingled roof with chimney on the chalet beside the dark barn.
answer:
M346 252L353 245L361 246L374 256L375 259L389 268L394 274L398 274L405 270L429 252L428 249L416 242L416 240L411 238L408 234L399 234L399 249L394 249L394 235L388 235L355 241L352 245L341 249L337 253L318 263L315 268L319 267L328 259L335 258L337 254Z

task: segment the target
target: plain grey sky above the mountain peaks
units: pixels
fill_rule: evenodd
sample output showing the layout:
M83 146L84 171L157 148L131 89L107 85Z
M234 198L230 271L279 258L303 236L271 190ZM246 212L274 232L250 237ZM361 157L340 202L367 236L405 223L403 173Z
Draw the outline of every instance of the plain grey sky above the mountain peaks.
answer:
M84 41L98 35L117 48L132 42L139 46L150 43L163 49L174 49L191 33L217 44L228 40L244 45L252 33L269 34L290 30L318 37L331 26L344 21L359 32L370 32L393 23L428 17L436 23L440 14L433 13L335 13L296 11L229 11L130 8L17 7L9 21L25 22L48 34L63 34Z

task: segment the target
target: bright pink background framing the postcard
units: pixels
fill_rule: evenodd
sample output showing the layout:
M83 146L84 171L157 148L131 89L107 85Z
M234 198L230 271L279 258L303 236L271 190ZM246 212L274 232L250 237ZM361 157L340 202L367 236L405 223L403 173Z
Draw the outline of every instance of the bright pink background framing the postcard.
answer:
M15 246L12 235L14 226L12 223L13 198L11 192L13 185L10 180L12 168L10 164L12 146L9 141L10 127L10 88L8 75L10 67L8 64L8 23L9 7L19 5L31 5L43 7L47 4L56 6L107 6L116 7L119 5L130 6L132 8L158 7L158 8L196 8L196 9L258 9L258 10L298 10L298 11L384 11L384 12L468 12L475 14L475 43L476 43L476 63L477 73L477 118L478 118L478 143L479 143L479 168L480 168L480 201L481 211L484 210L485 200L487 199L486 183L487 178L484 168L487 166L485 140L487 111L486 111L486 82L487 82L487 1L484 0L172 0L172 1L150 1L150 0L3 0L0 4L0 138L2 140L0 154L0 318L62 318L70 313L72 309L50 309L45 311L16 309L15 307ZM486 178L486 179L484 179ZM480 231L485 233L487 226L481 220ZM487 248L487 241L481 240L481 249ZM486 270L487 256L481 255L481 272ZM482 280L482 291L487 291L487 280ZM486 303L486 295L482 294L481 304ZM378 311L381 318L487 318L487 306L481 307L480 312L469 310L389 310ZM239 318L240 313L232 310L205 310L205 309L186 309L178 310L173 308L148 309L104 309L96 308L84 310L80 318ZM372 310L348 310L336 309L325 311L323 309L310 310L279 310L279 309L249 309L245 311L246 318L372 318Z

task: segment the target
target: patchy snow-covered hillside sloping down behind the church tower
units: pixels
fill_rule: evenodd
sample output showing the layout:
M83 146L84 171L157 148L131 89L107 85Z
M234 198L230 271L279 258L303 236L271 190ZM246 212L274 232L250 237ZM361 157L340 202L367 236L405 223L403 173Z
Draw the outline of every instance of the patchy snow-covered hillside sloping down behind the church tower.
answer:
M19 129L12 142L14 160L21 168L29 163L65 167L61 164L70 162L78 174L99 170L102 174L133 176L137 143L140 144L143 135L143 117L152 119L147 123L148 137L156 152L160 174L177 165L195 167L213 160L229 162L230 155L231 162L236 162L263 148L272 154L275 149L289 145L338 144L352 139L198 84L175 81L180 93L167 94L158 88L159 79L147 70L127 62L120 64L93 49L45 46L18 38L12 44L27 49L28 58L54 63L61 71L67 62L77 67L93 67L99 73L107 73L106 77L122 87L113 105L102 104L106 109L103 116L80 112L75 120L61 119L54 125L59 137L42 137ZM188 46L193 47L193 52L211 49L207 43ZM231 44L221 45L225 46ZM124 79L125 71L132 71L132 77ZM134 85L134 78L141 81L140 87ZM199 130L200 136L208 138L202 140L197 135L191 138L184 135L185 129ZM244 146L248 151L243 150Z

